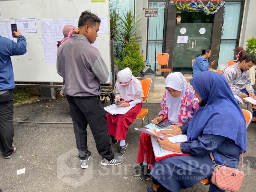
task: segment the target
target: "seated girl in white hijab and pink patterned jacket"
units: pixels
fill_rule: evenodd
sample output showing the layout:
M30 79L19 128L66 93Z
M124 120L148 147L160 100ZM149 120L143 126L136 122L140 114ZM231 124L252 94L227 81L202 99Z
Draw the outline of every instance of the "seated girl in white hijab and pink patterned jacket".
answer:
M180 72L171 73L166 77L165 88L166 91L161 101L162 109L159 117L154 118L152 123L158 124L161 120L167 120L173 125L181 126L198 109L198 99ZM151 169L154 163L154 153L149 136L141 133L137 157L139 165L132 170L132 175L139 176L142 181L150 179L149 168Z

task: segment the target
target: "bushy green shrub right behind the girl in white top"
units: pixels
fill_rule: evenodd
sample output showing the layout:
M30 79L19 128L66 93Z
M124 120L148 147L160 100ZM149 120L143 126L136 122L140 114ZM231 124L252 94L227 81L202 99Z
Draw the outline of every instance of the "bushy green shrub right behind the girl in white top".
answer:
M120 70L129 67L132 71L132 74L136 75L145 67L143 56L139 50L139 45L135 41L135 36L132 36L129 41L126 41L126 46L122 51L122 56L123 59L121 62L120 60L118 60L119 62L115 60Z

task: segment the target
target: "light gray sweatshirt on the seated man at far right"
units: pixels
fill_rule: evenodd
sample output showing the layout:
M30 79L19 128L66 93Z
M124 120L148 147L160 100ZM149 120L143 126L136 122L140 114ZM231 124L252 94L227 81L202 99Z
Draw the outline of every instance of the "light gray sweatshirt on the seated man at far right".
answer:
M242 72L238 67L238 63L225 68L222 74L227 79L233 94L240 96L242 94L240 90L245 89L248 93L251 93L253 88L250 84L250 70Z

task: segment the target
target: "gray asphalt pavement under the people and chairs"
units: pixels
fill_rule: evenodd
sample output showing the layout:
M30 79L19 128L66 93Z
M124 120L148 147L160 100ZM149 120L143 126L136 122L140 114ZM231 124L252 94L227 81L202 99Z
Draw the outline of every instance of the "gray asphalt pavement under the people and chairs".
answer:
M106 105L106 104L105 104ZM150 120L157 116L160 103L149 103ZM227 114L228 116L228 114ZM71 123L67 100L40 100L14 108L14 121ZM232 125L230 125L232 126ZM72 124L14 123L14 145L11 159L0 154L0 189L9 191L146 191L150 180L141 181L131 175L135 166L141 120L130 125L125 161L119 166L101 166L95 141L88 127L88 148L92 152L89 167L81 169ZM256 124L248 127L248 148L244 155L245 179L240 191L256 188ZM118 145L112 145L116 152ZM24 174L17 170L25 168ZM207 185L196 184L182 192L208 191Z

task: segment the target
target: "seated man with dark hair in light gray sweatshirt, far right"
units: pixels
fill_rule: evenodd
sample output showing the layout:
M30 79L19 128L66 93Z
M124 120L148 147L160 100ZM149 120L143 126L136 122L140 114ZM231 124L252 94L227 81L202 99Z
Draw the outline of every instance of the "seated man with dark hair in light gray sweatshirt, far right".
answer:
M252 88L249 71L255 63L254 55L247 54L238 63L225 68L222 72L234 95L238 95L241 99L245 97L256 99L256 91ZM253 112L252 116L252 122L256 122L256 111Z

